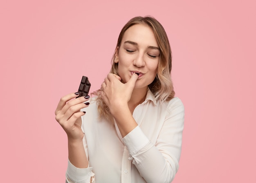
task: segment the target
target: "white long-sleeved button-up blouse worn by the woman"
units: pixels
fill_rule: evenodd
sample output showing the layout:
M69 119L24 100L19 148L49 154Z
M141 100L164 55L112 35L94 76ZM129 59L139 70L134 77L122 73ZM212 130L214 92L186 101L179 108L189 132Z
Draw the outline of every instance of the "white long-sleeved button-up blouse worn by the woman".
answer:
M121 137L117 124L99 120L94 98L84 108L83 144L88 168L68 161L67 183L170 183L179 168L184 127L184 106L175 97L156 101L148 89L146 99L132 116L138 126Z

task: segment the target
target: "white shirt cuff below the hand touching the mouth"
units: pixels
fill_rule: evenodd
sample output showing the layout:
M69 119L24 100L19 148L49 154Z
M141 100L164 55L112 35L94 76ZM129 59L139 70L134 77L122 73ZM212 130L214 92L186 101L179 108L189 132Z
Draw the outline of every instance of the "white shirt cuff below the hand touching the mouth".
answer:
M131 156L139 152L139 150L149 143L148 137L146 137L139 126L136 126L132 131L130 131L123 138L123 141Z

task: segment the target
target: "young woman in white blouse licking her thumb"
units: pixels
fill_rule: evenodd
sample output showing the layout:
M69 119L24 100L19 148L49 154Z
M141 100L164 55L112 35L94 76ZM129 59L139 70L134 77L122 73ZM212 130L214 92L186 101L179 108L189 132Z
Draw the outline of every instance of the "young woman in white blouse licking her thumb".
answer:
M61 98L67 183L170 183L178 168L184 106L174 97L171 49L152 17L121 30L112 68L95 97Z

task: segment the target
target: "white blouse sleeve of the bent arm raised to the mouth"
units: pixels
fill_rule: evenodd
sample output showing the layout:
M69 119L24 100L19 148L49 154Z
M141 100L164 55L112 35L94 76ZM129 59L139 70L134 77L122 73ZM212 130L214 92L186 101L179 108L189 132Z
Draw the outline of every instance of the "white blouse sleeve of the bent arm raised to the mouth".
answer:
M182 101L177 99L169 103L168 110L155 144L139 126L123 138L129 159L147 183L170 183L179 168L184 128Z

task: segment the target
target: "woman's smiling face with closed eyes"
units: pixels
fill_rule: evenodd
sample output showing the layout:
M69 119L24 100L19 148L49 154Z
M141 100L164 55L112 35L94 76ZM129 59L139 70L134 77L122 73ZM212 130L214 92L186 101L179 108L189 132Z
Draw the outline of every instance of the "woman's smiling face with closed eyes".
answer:
M148 87L157 74L159 55L155 35L148 26L135 24L128 28L115 53L122 82L128 82L133 73L139 73L135 88Z

